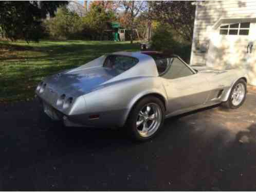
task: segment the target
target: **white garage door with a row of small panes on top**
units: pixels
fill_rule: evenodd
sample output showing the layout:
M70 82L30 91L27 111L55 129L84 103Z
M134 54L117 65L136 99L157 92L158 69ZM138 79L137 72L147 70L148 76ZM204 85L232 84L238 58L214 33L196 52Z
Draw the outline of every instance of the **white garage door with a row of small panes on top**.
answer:
M249 83L256 85L256 23L235 21L211 33L207 66L245 69Z

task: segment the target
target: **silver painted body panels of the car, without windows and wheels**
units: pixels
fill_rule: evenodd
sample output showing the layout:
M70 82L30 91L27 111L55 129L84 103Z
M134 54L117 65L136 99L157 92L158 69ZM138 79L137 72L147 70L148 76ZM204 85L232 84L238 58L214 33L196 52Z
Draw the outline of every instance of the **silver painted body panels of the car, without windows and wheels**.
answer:
M193 75L165 79L158 75L155 61L149 55L140 52L113 54L135 57L139 61L118 74L102 67L104 55L86 65L45 78L44 91L36 91L36 95L63 115L66 126L120 127L135 103L144 96L153 94L161 98L166 117L171 117L226 101L235 81L247 78L241 69L192 69L187 65ZM221 96L216 97L221 90ZM63 104L62 94L65 98L73 97L72 103ZM99 118L90 119L92 115L99 115Z

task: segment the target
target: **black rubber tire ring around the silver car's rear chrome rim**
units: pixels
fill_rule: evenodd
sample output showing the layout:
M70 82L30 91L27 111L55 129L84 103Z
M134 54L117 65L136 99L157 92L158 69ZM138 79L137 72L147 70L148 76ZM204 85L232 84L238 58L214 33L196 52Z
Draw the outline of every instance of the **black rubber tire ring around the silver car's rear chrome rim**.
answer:
M157 131L153 135L151 135L149 137L142 137L142 136L140 136L140 134L137 131L136 122L137 122L137 118L138 118L138 114L139 114L140 110L143 108L143 106L145 106L148 103L155 103L160 107L160 110L161 110L161 113L162 113L162 119L161 119L161 123L160 123ZM139 100L135 104L134 108L132 109L132 111L129 115L129 119L127 121L127 126L128 126L127 128L131 131L132 136L136 140L138 140L138 141L149 140L159 132L159 130L160 130L162 124L163 124L163 121L164 121L164 116L165 116L164 111L165 111L164 110L164 105L163 105L163 103L160 99L158 99L156 97L150 97L150 96L142 98L141 100Z

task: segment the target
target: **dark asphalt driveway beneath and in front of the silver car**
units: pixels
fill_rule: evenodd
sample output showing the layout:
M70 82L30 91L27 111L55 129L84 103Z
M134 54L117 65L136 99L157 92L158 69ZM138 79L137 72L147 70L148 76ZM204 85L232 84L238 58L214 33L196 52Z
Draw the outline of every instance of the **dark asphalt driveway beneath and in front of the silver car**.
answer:
M256 91L167 119L152 141L65 128L35 101L0 104L0 190L256 190Z

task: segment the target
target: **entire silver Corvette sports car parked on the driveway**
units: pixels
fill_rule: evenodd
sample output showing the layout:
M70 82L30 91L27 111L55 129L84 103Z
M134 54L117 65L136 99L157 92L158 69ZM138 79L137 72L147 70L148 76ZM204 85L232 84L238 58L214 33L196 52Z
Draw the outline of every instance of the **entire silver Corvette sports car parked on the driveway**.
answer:
M192 68L160 52L116 52L46 77L35 93L44 112L66 126L124 126L147 140L164 118L218 103L239 108L246 83L242 69Z

